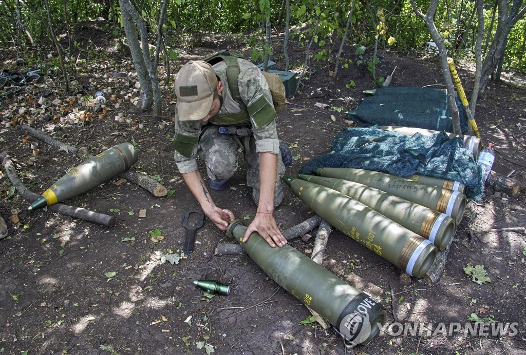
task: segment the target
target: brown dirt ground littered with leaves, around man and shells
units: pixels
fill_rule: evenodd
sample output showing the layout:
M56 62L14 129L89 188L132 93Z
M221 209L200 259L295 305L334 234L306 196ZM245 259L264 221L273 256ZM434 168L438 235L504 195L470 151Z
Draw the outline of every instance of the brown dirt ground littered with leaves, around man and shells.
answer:
M79 64L79 70L71 74L78 86L89 87L89 95L108 85L117 97L124 96L122 92L133 92L133 70L126 68L131 58L112 49L115 41L109 33L86 27L78 34L85 40L90 38L97 53L97 59ZM243 48L241 43L214 39L207 43L209 48L182 51L179 59L202 58L217 49ZM347 58L354 58L352 48L345 51ZM305 47L291 44L289 55L295 71L300 71L305 53ZM14 54L3 56L2 69L21 70L14 62ZM397 68L391 86L443 82L437 59L432 55L398 57L388 53L380 59L380 75L386 76ZM276 56L272 60L284 69L283 58ZM346 112L359 105L363 90L375 88L363 66L340 68L334 79L329 76L333 64L310 64L308 80L301 82L297 94L289 99L277 119L281 140L293 147L295 160L287 168L290 175L295 175L309 159L326 153L341 130L356 126L347 120ZM88 65L93 70L88 71ZM177 70L178 65L180 61L173 62L172 68ZM472 73L466 64L459 63L457 67L469 95ZM112 80L95 77L114 70L127 71L129 75ZM59 75L52 78L59 81ZM356 87L347 88L351 79ZM50 98L65 94L60 87L58 83L58 92L52 92ZM36 86L27 89L34 90L35 96L42 90ZM526 169L526 130L522 126L526 124L525 92L519 76L509 74L504 82L488 84L476 112L483 140L494 143L497 162L515 169L513 178L522 185ZM0 353L526 353L525 234L478 232L472 240L469 237L469 231L523 227L523 190L511 196L495 192L490 186L482 201L468 203L443 275L434 286L416 278L409 286L403 286L396 266L338 231L330 235L323 266L380 300L387 309L388 323L432 323L433 329L441 322L460 323L461 330L450 335L434 331L396 335L392 328L367 346L346 350L335 332L325 331L311 321L308 309L248 256L215 256L217 243L230 241L206 218L188 258L173 265L161 259L166 254L180 255L185 239L184 214L199 208L173 161L170 123L174 101L166 98L167 93L164 89L163 120L168 123L164 129L152 122L147 113L137 113L129 102L112 107L104 119L96 118L83 128L59 121L34 123L36 129L55 139L87 147L94 154L130 142L139 154L133 169L167 187L170 196L154 197L130 182L116 184L119 179L115 178L65 202L115 216L114 227L57 214L48 208L27 211L28 201L16 192L10 193L11 183L2 169L0 184L4 195L0 214L8 223L9 237L0 241ZM2 115L14 102L11 99L2 103ZM317 108L317 102L337 109ZM109 106L113 106L111 103ZM121 112L137 122L116 122L114 117ZM139 129L137 123L145 123L145 128ZM57 126L60 130L54 132ZM44 192L82 162L74 154L39 141L41 153L34 165L28 165L32 151L29 142L22 141L23 136L36 141L17 125L0 126L0 151L16 159L19 176L34 192ZM211 194L217 204L250 222L256 206L245 182L241 169L229 189ZM284 203L275 211L282 229L313 215L305 203L287 187L284 189ZM146 217L139 217L140 210L146 210ZM16 223L10 221L13 214L19 218ZM311 234L315 233L316 230ZM159 234L164 239L155 239ZM298 239L290 244L310 256L312 245ZM464 272L468 264L483 266L490 282L474 282ZM193 285L196 279L218 280L230 285L231 293L206 295ZM474 324L476 320L516 323L517 331L502 336L464 333L466 323Z

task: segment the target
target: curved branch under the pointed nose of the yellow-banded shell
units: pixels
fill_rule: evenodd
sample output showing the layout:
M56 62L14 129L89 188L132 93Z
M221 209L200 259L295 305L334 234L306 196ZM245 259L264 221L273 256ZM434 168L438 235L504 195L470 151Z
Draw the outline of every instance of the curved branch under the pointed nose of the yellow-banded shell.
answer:
M0 153L0 161L2 161L2 164L4 165L7 177L9 177L9 180L11 180L11 183L15 186L16 191L18 191L18 193L22 197L24 197L24 199L30 202L34 202L41 196L37 193L32 192L31 190L28 190L22 182L22 180L20 180L18 174L16 173L13 160L7 154L7 152ZM64 205L62 203L56 203L54 205L47 206L47 208L49 208L49 210L55 211L60 214L64 214L66 216L80 218L85 221L102 224L108 227L115 226L115 223L117 221L116 218L113 216L89 211L85 208Z

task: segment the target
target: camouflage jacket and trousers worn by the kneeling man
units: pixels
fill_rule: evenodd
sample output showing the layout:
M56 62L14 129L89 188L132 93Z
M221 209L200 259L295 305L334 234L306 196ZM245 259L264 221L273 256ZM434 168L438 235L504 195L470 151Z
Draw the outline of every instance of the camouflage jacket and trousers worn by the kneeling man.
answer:
M272 107L272 96L265 77L260 70L251 62L245 59L238 59L239 76L238 86L241 99L248 107L250 104L258 99L261 102L263 96ZM244 151L245 165L247 169L247 185L252 187L252 197L256 204L259 202L259 154L263 152L270 152L278 155L278 174L276 176L276 187L274 195L274 205L277 206L283 199L283 190L281 185L280 175L285 173L285 166L281 160L279 151L278 133L276 130L276 112L273 112L274 117L261 117L256 112L252 114L246 123L236 126L245 126L248 124L252 130L252 134L247 137L236 137L232 134L219 133L219 127L228 126L227 124L219 124L214 122L216 118L241 112L242 109L239 104L232 99L230 90L228 89L228 82L226 78L226 64L224 61L219 62L213 66L216 75L223 83L223 90L221 96L223 99L222 106L219 112L211 118L208 122L201 120L197 121L179 121L177 114L177 106L175 109L175 137L184 135L183 139L188 137L197 140L197 145L191 145L191 148L186 152L174 152L174 160L177 163L177 168L181 174L190 173L197 170L196 157L199 155L201 160L206 162L208 177L212 180L230 179L238 168L239 156L238 149ZM250 110L249 110L250 111ZM272 118L270 122L268 118ZM178 136L179 134L179 136ZM249 149L246 146L249 145Z

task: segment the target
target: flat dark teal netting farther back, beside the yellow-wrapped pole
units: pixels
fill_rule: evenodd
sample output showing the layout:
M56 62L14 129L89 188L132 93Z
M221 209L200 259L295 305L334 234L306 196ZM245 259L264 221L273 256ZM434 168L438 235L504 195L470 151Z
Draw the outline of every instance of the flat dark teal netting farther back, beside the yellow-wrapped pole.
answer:
M465 133L468 117L457 99L460 129ZM435 131L453 132L451 110L443 90L419 87L383 87L375 90L354 111L349 111L350 120L357 121L360 127L409 126Z

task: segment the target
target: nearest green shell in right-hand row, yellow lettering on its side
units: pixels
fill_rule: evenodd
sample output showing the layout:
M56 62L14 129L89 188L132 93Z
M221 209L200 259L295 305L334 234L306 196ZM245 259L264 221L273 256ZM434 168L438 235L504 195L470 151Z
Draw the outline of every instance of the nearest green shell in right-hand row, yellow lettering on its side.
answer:
M291 176L281 179L320 217L409 275L420 278L433 263L433 243L372 208L329 187Z

